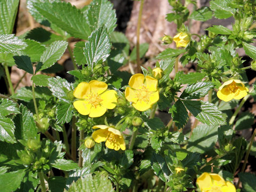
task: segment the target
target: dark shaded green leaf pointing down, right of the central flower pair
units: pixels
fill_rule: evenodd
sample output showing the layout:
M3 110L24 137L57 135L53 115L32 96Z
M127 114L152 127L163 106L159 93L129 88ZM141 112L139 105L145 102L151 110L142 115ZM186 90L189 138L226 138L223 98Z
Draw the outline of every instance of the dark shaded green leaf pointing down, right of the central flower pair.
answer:
M169 110L169 113L172 114L173 121L175 122L175 126L178 129L182 129L188 122L188 111L186 107L183 105L181 100L175 102L175 105Z

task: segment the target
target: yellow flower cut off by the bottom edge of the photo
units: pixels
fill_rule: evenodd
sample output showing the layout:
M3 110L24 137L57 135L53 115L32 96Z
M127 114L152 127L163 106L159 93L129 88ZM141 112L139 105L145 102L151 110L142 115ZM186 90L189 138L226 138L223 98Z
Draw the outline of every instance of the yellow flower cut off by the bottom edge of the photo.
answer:
M204 172L197 178L196 183L201 192L236 192L231 182L226 182L216 173Z

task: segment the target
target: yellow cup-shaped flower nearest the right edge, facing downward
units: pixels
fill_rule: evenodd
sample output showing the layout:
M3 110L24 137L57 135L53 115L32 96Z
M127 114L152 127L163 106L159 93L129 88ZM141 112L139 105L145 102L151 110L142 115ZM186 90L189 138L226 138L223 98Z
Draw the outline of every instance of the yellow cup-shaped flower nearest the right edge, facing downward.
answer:
M227 102L232 99L242 99L248 91L248 88L240 80L231 79L220 86L217 96Z

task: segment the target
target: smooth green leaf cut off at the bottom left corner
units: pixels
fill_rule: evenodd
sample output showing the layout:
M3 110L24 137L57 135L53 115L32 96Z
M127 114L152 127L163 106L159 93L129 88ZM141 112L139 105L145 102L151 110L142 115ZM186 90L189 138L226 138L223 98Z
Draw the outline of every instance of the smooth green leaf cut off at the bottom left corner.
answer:
M2 187L2 192L15 191L23 180L26 174L25 170L13 171L9 173L4 173L0 175L0 186Z

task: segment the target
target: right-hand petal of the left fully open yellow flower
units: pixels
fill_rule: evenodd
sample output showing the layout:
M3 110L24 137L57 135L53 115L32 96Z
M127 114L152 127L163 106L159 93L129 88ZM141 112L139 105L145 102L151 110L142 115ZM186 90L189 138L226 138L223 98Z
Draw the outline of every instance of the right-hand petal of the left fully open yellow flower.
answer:
M116 107L116 98L117 92L115 90L108 90L105 91L100 95L102 101L102 106L106 107L107 109L114 109Z

